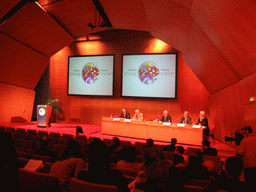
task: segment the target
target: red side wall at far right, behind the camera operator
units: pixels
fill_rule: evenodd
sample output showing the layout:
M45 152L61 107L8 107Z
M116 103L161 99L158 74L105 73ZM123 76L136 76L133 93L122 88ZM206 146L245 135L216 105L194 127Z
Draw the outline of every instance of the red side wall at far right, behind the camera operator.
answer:
M250 98L256 95L256 73L219 91L209 98L212 120L216 125L216 138L224 141L244 126L256 131L256 106Z

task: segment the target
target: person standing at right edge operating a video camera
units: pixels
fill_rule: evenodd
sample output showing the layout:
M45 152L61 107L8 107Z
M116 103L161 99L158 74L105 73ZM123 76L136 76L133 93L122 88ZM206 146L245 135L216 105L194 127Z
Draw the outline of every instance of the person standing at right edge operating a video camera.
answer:
M244 129L244 138L237 147L237 155L243 159L244 179L246 182L256 184L256 136L252 128L247 126Z

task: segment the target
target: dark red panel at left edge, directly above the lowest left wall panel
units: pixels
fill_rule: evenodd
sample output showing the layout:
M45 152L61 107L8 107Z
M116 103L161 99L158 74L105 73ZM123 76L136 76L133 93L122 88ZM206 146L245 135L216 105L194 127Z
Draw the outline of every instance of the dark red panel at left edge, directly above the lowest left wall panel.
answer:
M34 89L49 58L0 33L0 82Z

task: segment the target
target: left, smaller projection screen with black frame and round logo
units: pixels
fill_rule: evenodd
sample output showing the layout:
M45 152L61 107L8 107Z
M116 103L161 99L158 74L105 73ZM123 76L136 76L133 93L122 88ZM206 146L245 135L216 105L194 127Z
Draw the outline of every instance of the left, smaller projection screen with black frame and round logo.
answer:
M68 58L68 95L114 96L114 55Z

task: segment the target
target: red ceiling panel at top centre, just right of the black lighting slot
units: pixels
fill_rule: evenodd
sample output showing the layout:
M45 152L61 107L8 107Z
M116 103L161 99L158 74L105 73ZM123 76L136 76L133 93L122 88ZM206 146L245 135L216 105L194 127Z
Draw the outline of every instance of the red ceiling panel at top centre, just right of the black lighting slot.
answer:
M100 0L115 29L149 31L143 0Z

